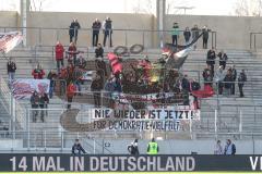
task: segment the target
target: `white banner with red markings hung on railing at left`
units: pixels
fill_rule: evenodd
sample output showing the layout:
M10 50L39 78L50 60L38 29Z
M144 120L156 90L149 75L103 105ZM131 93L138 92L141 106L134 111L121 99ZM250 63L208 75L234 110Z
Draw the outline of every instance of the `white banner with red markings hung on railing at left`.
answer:
M15 99L29 99L35 90L48 94L49 86L49 79L20 78L12 83L12 94Z

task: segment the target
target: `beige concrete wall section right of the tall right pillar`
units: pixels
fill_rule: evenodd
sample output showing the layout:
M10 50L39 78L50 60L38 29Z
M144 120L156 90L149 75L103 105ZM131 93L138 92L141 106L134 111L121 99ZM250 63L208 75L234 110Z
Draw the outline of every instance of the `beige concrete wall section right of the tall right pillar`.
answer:
M194 24L201 28L207 25L217 32L217 48L249 49L250 32L262 32L261 17L167 15L165 29L170 29L174 22L178 22L181 29L186 26L191 28ZM170 37L168 39L170 40ZM257 40L261 39L262 36L257 37ZM183 36L180 37L180 42L183 42ZM199 46L202 46L202 40L200 42ZM209 44L211 46L211 37ZM258 46L261 44L262 41L258 42Z

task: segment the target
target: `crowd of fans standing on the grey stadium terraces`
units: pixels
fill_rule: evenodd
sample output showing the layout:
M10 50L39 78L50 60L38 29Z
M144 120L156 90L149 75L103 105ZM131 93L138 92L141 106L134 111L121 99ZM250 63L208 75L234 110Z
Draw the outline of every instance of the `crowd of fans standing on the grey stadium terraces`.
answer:
M38 115L38 108L47 109L49 103L49 98L52 98L55 86L60 86L61 92L67 92L68 98L68 109L71 108L71 102L75 94L81 95L81 84L83 84L83 79L81 79L82 73L81 70L86 67L86 60L82 55L82 51L79 51L76 48L78 41L78 30L81 28L78 20L73 20L69 28L70 36L70 45L68 49L64 49L64 46L58 41L56 45L56 62L57 62L57 71L50 71L47 75L47 78L50 79L50 90L49 94L34 94L31 97L32 108L35 109L33 113L33 121L36 122L36 117ZM163 84L152 84L150 79L148 70L151 70L152 63L147 57L144 60L139 60L138 65L131 66L132 71L129 73L122 74L107 74L106 63L103 60L104 58L104 49L100 44L98 44L99 30L103 29L104 40L103 46L106 46L107 39L109 38L109 46L112 47L111 35L112 35L112 22L110 17L106 17L104 23L102 24L99 20L95 20L93 25L93 47L95 49L95 58L96 58L96 75L92 80L91 90L94 95L94 104L95 107L100 107L102 99L102 90L105 89L108 94L107 97L114 98L115 92L138 92L146 94L146 92L186 92L190 94L193 90L200 89L200 84L194 79L189 79L187 75L182 78L179 78L179 75L175 71L168 71L167 77L165 77ZM186 45L189 44L191 36L192 39L199 37L200 32L203 33L203 49L207 48L209 33L211 32L206 26L203 29L199 29L198 25L194 25L190 30L189 27L186 27L183 32L183 37ZM192 35L191 35L192 34ZM172 45L178 46L178 38L180 35L178 23L174 23L172 26ZM196 48L196 46L194 47ZM219 67L215 71L215 59L219 58ZM66 62L67 60L67 66ZM213 82L215 82L217 86L218 95L222 95L223 91L226 91L226 95L235 95L235 84L237 80L237 71L235 65L226 70L228 58L224 51L221 51L216 54L215 49L212 48L207 52L206 58L206 69L203 71L204 85L209 85L213 87ZM158 65L163 65L163 59L158 60ZM8 74L10 83L14 79L14 73L16 70L15 63L10 59L8 62ZM141 75L142 71L142 75ZM226 72L226 73L225 73ZM41 69L40 64L37 64L36 69L32 71L32 76L35 79L43 79L46 76L46 72ZM179 79L179 80L177 80ZM247 75L245 71L238 76L238 86L240 91L240 97L243 97L242 87L245 82L247 80ZM79 92L76 92L79 91ZM160 95L159 95L160 96ZM165 98L165 97L164 97ZM194 101L198 104L198 98L194 97ZM166 103L166 101L164 101ZM111 101L112 104L112 101ZM189 104L187 101L184 104ZM46 111L46 110L45 110ZM40 119L44 122L44 116L47 112L44 110L40 112Z

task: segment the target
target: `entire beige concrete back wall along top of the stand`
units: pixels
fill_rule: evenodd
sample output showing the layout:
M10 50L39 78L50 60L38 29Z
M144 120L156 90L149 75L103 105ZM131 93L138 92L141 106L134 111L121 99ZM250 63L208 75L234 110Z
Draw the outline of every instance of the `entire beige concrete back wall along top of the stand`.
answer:
M69 35L68 27L73 18L78 18L82 28L90 28L94 18L104 18L106 13L71 13L71 12L29 12L27 16L28 27L41 27L43 29L31 28L27 30L28 44L53 45L57 39L68 45ZM0 12L0 27L1 26L17 26L16 12ZM148 14L121 14L112 13L110 17L114 22L115 29L156 29L156 18ZM181 29L186 26L190 28L198 24L199 27L207 25L209 28L215 30L217 39L217 48L233 48L233 49L249 49L250 32L262 32L261 17L238 17L238 16L201 16L201 15L167 15L165 29L170 30L172 23L178 22ZM50 30L44 28L64 28L58 30ZM3 32L3 29L0 29ZM9 29L10 30L10 29ZM92 33L90 30L80 30L79 46L91 46ZM165 34L166 41L171 41L170 33ZM211 47L210 36L210 47ZM112 35L114 46L133 44L144 44L146 47L157 46L157 33L145 32L122 32L115 30ZM127 40L127 41L126 41ZM144 40L144 41L143 41ZM100 34L99 42L103 41ZM179 39L183 44L183 36ZM199 47L202 46L202 40ZM262 48L262 35L257 35L257 48Z

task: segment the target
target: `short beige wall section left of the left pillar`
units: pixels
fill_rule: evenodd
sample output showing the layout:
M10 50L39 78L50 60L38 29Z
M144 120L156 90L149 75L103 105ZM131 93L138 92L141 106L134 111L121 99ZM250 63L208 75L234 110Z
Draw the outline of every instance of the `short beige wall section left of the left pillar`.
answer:
M17 26L17 12L0 11L0 27L16 27L16 26ZM0 28L0 32L4 32L4 29Z

